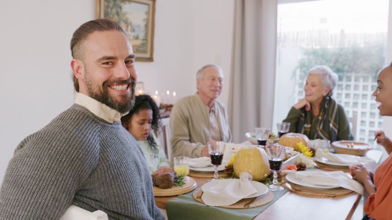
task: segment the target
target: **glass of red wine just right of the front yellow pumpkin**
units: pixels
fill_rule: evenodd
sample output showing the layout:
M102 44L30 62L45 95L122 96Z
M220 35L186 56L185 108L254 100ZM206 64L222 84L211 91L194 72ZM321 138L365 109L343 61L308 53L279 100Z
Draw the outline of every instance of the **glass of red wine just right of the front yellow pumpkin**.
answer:
M267 151L268 160L270 164L270 169L272 173L274 173L274 180L272 180L272 185L269 185L268 188L271 191L282 191L283 186L278 185L278 174L277 171L280 170L283 163L283 157L285 156L285 147L279 144L269 144L265 147Z

